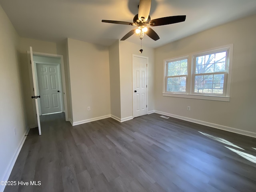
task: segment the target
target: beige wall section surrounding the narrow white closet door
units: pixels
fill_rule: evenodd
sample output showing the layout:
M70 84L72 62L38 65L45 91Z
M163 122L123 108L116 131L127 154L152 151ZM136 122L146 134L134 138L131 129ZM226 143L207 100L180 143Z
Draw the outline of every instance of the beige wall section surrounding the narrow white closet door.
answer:
M132 54L148 57L148 111L154 110L154 49L143 47L142 54L139 50L139 44L119 41L121 119L133 116Z

